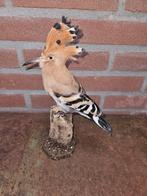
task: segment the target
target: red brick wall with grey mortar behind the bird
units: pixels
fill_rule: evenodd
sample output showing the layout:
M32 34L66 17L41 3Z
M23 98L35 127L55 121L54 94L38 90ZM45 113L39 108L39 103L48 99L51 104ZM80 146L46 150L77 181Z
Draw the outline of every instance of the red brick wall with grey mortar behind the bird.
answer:
M147 113L146 0L0 0L0 111L46 112L53 101L39 56L51 25L69 16L84 31L89 56L70 66L106 113Z

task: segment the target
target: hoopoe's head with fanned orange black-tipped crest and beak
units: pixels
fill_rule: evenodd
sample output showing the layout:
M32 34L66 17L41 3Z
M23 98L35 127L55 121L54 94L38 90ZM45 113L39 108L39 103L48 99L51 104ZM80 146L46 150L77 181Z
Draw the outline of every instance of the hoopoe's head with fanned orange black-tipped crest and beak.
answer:
M26 66L26 69L38 65L42 68L45 64L65 64L68 59L76 60L76 56L82 53L82 49L71 44L80 36L81 30L78 26L71 25L71 21L63 16L62 21L55 23L48 33L41 56L25 62L23 66Z

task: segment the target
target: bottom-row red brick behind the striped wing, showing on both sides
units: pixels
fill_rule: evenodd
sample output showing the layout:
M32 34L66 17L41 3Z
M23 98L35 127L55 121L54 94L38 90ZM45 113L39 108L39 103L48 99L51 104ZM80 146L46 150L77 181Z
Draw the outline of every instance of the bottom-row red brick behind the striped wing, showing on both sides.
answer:
M97 104L100 101L99 96L90 96ZM55 104L49 95L31 95L33 108L48 108Z

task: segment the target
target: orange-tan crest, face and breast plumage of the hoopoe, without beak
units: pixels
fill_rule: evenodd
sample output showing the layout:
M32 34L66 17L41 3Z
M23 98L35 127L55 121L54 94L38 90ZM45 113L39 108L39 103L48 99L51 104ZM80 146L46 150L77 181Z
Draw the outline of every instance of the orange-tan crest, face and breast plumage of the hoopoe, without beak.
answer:
M54 26L60 28L51 28L40 60L44 88L49 93L52 91L65 95L77 93L79 83L66 67L67 60L76 60L76 57L82 54L82 48L72 43L75 36L77 37L77 30L62 22Z

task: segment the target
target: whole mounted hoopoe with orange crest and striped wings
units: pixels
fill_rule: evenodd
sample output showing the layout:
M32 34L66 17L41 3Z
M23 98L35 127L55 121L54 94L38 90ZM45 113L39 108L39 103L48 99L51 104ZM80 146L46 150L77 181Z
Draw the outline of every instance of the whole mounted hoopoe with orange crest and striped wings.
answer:
M76 45L81 31L78 26L62 17L62 22L51 28L41 56L23 65L31 69L37 64L42 71L44 89L54 99L64 113L78 113L93 120L108 133L112 128L102 115L98 105L86 94L83 87L68 70L68 60L76 61L84 49Z

